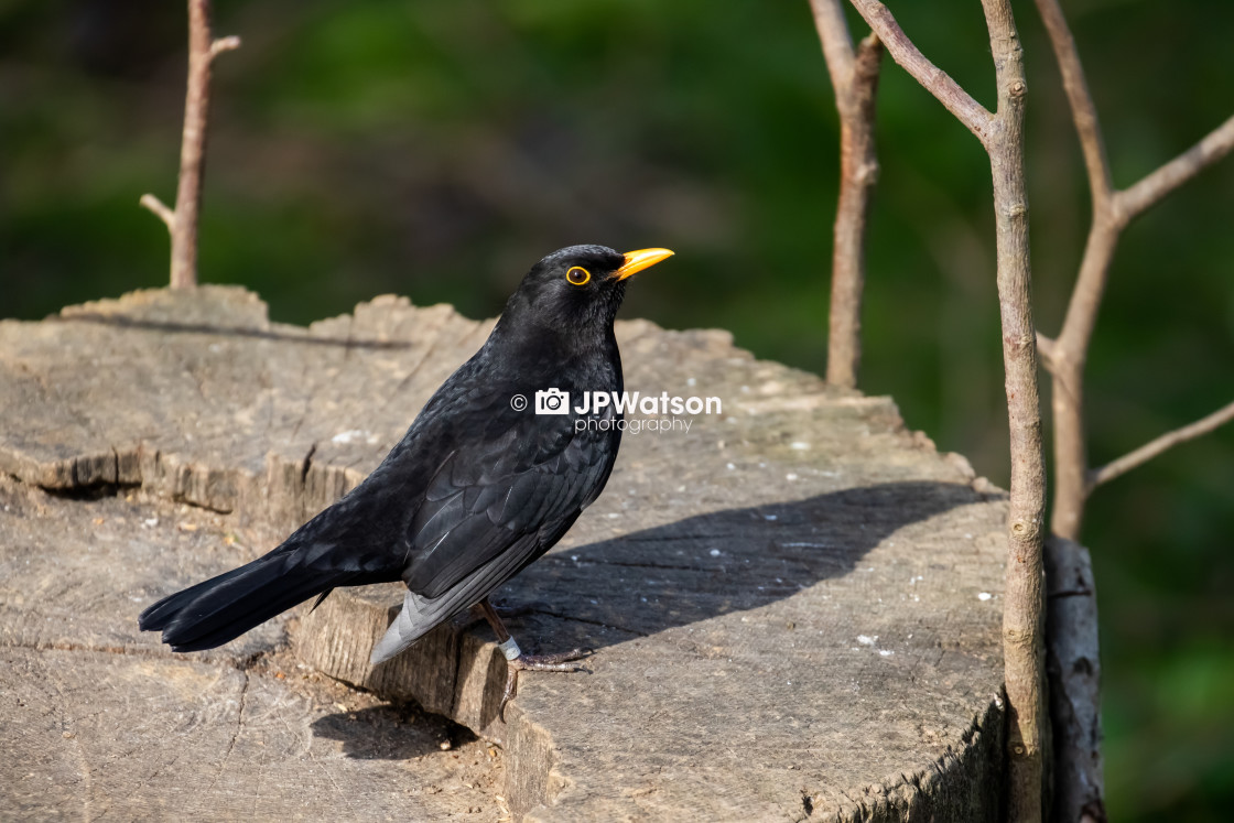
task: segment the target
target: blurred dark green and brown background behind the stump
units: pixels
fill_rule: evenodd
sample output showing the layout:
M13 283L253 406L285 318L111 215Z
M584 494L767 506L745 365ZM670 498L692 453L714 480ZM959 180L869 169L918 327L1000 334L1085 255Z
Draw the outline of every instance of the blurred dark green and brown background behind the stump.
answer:
M1065 2L1128 185L1234 112L1229 0ZM985 102L976 0L893 2ZM1075 134L1032 4L1038 321L1058 332L1088 225ZM865 32L854 20L854 31ZM580 242L666 246L623 315L724 327L822 371L837 123L806 0L216 2L201 279L305 323L383 292L496 313ZM183 2L0 0L0 316L167 280ZM879 101L863 387L1007 480L988 165L897 67ZM1135 223L1088 369L1095 463L1234 395L1234 159ZM1109 809L1234 806L1234 427L1097 492Z

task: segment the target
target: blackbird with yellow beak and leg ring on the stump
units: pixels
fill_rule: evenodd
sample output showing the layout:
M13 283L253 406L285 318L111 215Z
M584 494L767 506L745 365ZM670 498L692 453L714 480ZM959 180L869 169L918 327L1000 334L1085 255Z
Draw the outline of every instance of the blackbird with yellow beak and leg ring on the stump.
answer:
M337 586L402 580L402 610L374 664L476 606L506 655L502 709L520 670L576 670L578 649L523 654L487 598L603 490L621 413L610 403L591 412L597 424L576 427L568 395L622 391L613 317L626 280L671 254L571 246L533 265L480 350L364 482L269 554L158 601L141 628L162 631L174 651L211 649ZM537 392L542 411L558 413L537 413Z

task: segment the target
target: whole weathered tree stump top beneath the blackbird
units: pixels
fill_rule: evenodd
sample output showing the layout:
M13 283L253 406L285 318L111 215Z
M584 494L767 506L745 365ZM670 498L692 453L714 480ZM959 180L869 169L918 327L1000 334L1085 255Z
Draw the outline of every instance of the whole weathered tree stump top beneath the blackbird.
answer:
M0 708L20 753L0 812L157 811L193 790L195 817L220 819L997 817L1004 496L888 399L722 332L618 323L628 390L717 396L723 413L627 432L601 498L501 590L524 649L596 649L590 672L523 672L508 723L482 624L368 664L395 585L337 591L212 653L173 656L136 631L153 600L359 482L490 328L395 297L299 328L216 286L0 322L0 650L6 693L28 695ZM364 734L322 730L333 716L311 690L328 684L301 682L307 666L505 751L465 755L478 765L459 777L373 706L362 728L387 754L355 754ZM428 790L450 774L470 788ZM56 791L27 791L42 784Z

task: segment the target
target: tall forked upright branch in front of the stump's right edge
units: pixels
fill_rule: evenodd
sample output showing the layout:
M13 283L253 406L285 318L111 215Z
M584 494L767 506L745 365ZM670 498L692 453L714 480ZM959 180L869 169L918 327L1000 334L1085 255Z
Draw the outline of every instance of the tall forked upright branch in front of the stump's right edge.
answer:
M1007 819L1037 823L1041 819L1041 745L1048 719L1043 697L1045 458L1041 450L1028 199L1024 189L1024 95L1028 86L1023 49L1011 0L982 0L998 89L997 112L991 114L917 49L886 6L876 0L851 2L887 44L896 62L967 126L990 155L1011 434L1003 608L1003 666L1008 702Z

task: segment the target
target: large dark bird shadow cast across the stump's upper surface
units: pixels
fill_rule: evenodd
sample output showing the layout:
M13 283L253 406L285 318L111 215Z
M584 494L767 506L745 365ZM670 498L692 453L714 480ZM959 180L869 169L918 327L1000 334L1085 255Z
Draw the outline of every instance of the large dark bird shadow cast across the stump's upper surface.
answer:
M532 649L601 649L791 597L849 574L905 526L983 500L967 485L908 481L722 510L554 550L497 600Z

